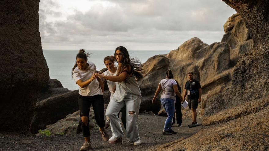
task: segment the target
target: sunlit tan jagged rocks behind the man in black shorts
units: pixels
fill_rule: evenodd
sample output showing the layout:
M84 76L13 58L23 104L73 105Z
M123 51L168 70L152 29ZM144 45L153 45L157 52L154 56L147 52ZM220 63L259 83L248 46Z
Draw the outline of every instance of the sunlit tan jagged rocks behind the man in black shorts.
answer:
M228 19L224 25L224 31L226 34L222 42L208 45L194 37L168 54L149 58L142 65L145 70L144 78L138 84L141 88L156 89L160 80L165 78L167 69L171 69L174 79L184 90L185 83L189 80L187 73L193 71L194 78L200 81L202 86L203 102L199 105L198 110L201 112L198 115L203 115L207 99L231 87L234 64L239 56L252 48L253 44L249 31L238 13ZM149 97L153 98L153 95L154 93L149 94ZM185 112L188 113L183 111ZM159 111L159 115L164 113L164 109Z

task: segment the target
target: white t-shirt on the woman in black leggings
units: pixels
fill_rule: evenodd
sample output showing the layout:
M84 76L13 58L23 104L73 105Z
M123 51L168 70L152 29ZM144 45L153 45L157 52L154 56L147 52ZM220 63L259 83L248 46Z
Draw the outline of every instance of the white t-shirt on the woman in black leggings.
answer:
M78 80L86 81L91 78L95 73L96 66L92 62L88 62L89 67L86 70L80 70L79 67L76 67L73 71L73 79L75 82ZM103 95L102 89L99 88L99 82L97 79L94 79L90 84L85 88L79 87L79 94L82 96L94 96L94 95Z

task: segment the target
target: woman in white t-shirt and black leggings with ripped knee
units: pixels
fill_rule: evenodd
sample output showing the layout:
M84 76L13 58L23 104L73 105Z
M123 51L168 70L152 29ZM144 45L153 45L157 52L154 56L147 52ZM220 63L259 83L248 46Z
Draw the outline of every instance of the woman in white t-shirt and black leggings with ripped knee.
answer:
M85 50L79 50L76 56L76 64L72 69L72 78L79 85L79 113L82 133L85 139L80 150L88 150L90 145L89 113L92 104L96 123L104 141L108 141L109 135L105 130L104 120L104 99L103 99L103 81L95 77L96 66L92 62L87 62L89 53Z

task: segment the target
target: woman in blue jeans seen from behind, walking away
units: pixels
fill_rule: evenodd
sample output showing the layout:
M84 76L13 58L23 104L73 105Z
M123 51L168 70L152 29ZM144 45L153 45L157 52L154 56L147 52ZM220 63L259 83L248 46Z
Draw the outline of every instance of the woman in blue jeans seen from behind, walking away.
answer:
M183 102L183 98L180 95L177 87L177 83L173 78L174 76L172 71L168 69L166 71L166 79L160 81L159 86L152 99L152 103L154 103L157 95L159 95L160 91L162 91L161 103L164 106L168 116L164 124L163 135L177 134L177 132L173 131L171 127L172 117L175 113L175 95L181 98L181 103Z

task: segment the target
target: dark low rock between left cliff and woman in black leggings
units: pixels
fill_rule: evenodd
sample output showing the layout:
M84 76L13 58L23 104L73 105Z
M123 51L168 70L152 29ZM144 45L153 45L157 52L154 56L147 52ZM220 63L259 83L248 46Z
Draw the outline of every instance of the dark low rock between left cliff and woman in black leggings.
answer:
M78 90L69 91L63 88L60 81L50 79L39 94L39 102L36 103L31 122L31 132L35 134L39 129L45 129L46 125L53 124L69 113L77 111L78 95Z

